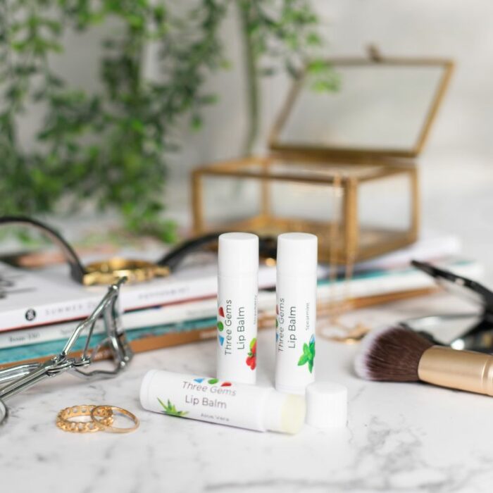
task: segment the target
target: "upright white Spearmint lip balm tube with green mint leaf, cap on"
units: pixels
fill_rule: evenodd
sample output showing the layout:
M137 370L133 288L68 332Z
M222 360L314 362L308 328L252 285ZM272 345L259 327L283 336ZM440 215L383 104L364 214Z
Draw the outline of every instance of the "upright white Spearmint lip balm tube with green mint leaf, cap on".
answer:
M284 233L277 237L275 388L304 394L315 380L317 313L315 235Z

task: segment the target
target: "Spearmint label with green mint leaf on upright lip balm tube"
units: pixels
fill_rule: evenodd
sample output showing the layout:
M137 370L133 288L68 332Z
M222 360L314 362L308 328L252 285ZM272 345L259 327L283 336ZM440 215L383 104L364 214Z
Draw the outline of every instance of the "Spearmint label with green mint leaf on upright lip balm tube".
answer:
M305 386L315 364L315 282L278 283L276 304L276 385Z

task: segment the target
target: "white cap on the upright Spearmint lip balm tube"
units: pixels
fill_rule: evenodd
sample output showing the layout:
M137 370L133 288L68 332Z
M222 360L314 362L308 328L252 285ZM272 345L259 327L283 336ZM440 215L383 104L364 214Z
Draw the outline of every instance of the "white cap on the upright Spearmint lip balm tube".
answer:
M310 233L282 233L277 237L277 272L313 275L317 272L318 239Z

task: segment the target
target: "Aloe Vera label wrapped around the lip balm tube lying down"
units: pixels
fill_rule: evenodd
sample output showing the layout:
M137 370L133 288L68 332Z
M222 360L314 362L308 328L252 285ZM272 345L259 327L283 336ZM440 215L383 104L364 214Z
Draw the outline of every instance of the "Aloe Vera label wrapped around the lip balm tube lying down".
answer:
M159 372L149 387L146 408L169 416L262 429L268 389L217 378Z

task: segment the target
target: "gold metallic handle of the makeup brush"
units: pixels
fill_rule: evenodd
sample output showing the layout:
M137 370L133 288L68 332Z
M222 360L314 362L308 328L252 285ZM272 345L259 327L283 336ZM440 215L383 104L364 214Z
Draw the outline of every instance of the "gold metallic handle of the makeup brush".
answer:
M433 385L493 396L493 356L432 346L421 356L418 377Z

